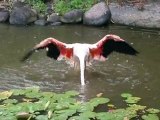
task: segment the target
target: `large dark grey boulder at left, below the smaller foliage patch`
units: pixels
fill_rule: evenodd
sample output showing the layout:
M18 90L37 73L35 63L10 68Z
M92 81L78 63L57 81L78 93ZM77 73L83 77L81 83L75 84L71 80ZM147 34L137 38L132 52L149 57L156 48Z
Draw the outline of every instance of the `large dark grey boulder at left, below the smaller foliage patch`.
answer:
M37 20L37 12L28 6L16 7L10 14L10 24L26 25Z

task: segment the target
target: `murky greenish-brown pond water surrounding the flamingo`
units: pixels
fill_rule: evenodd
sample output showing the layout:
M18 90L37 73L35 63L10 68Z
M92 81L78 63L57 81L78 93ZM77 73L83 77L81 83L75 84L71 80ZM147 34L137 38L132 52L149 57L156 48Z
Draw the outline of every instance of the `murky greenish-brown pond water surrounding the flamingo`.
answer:
M34 54L27 62L21 57L36 43L54 37L65 43L95 43L106 34L116 34L131 43L140 54L128 56L113 53L105 62L95 62L85 73L86 85L81 86L79 72L64 61L54 61L45 52ZM111 25L87 27L11 26L0 24L0 90L40 86L43 91L80 92L87 101L98 93L122 106L120 94L132 93L142 98L141 104L157 108L160 100L160 32Z

